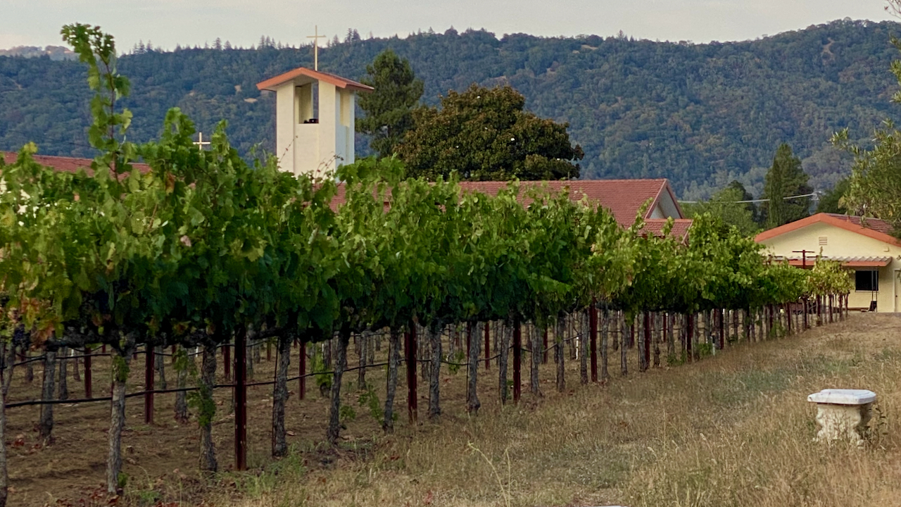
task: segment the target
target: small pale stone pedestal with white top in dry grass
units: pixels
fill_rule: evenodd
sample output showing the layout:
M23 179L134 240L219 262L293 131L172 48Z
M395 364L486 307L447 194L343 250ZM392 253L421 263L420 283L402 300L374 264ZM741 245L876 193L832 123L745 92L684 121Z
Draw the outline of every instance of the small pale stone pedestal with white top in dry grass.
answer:
M816 422L820 431L816 440L831 443L848 440L863 445L863 430L867 428L870 410L876 393L866 389L824 389L807 396L816 403Z

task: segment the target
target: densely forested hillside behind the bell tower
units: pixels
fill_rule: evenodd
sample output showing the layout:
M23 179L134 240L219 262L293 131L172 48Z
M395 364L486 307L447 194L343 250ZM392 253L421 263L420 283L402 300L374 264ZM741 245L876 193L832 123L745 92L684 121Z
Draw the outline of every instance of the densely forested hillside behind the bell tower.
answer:
M378 52L392 48L423 78L427 104L471 83L509 84L537 115L569 122L572 141L585 150L584 178L667 177L685 198L737 179L756 196L779 143L803 160L815 189L829 189L850 167L830 135L849 127L866 143L880 121L897 116L888 68L901 56L890 43L898 28L846 19L708 44L452 28L364 40L350 30L320 51L320 69L362 78ZM255 85L312 67L313 51L260 42L124 55L134 140L157 136L165 112L179 106L203 132L228 120L232 143L245 154L271 150L274 96ZM84 73L77 61L0 57L0 150L34 141L44 154L92 156ZM358 139L359 151L367 144Z

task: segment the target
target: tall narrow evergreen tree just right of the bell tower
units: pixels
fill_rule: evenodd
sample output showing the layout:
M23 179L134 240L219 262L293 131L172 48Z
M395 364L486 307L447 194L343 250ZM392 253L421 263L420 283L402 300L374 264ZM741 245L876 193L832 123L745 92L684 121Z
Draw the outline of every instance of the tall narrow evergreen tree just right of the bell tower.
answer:
M376 90L359 97L359 108L366 116L357 120L357 131L371 135L369 146L379 157L388 157L413 127L413 109L423 97L423 80L415 77L409 61L391 50L379 53L366 72L360 81Z

